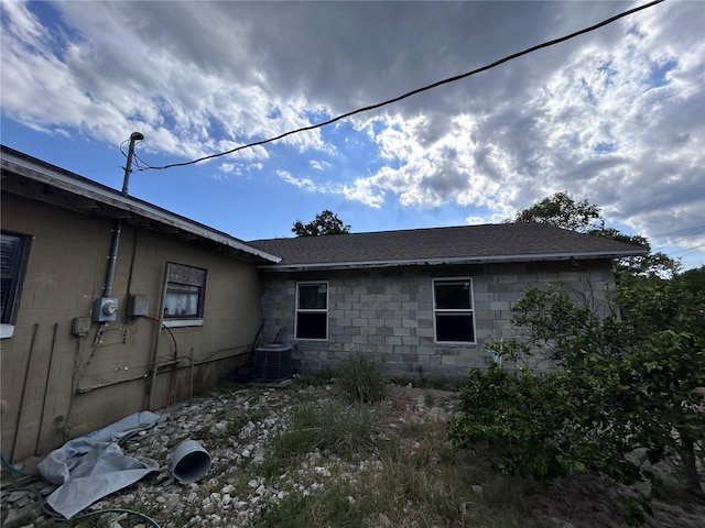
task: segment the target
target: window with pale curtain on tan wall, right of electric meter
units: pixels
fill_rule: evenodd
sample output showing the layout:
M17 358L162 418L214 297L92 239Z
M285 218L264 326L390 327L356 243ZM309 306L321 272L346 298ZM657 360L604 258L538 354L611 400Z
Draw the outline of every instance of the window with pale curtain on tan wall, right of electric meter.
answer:
M174 263L169 263L167 266L164 294L165 324L178 326L177 321L203 322L206 271ZM173 323L169 324L166 321Z

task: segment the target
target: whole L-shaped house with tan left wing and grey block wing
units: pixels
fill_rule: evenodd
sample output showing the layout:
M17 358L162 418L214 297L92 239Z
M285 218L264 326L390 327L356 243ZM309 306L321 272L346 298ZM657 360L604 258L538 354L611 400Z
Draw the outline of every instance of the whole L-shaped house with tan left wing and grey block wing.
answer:
M529 286L606 300L620 242L538 223L243 242L0 146L1 442L10 461L217 385L263 341L300 371L368 353L458 377Z

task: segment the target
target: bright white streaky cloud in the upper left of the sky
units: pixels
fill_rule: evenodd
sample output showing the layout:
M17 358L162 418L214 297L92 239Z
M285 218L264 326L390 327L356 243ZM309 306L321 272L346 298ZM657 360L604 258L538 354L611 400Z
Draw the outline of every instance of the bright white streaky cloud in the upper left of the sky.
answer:
M7 10L2 107L35 128L69 125L113 143L137 128L147 148L200 157L220 152L217 136L243 144L311 124L306 100L270 89L241 53L237 35L247 32L232 12L219 19L218 4L55 7L69 33L46 31L24 4ZM195 37L198 22L210 24L209 38ZM318 131L282 142L326 148Z

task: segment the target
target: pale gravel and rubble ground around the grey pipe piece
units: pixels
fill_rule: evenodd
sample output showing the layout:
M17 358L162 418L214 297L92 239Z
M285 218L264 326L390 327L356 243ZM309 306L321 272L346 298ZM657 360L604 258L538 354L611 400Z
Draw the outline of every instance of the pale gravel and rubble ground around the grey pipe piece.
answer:
M122 446L127 455L155 460L160 471L105 497L76 517L98 509L127 508L149 515L161 528L247 527L265 505L278 503L291 492L308 495L325 487L332 477L354 479L356 472L380 464L380 461L373 455L354 462L341 461L313 451L295 472L288 473L274 483L267 484L257 471L263 461L268 438L285 427L292 404L302 396L316 399L330 397L333 391L332 385L305 388L295 385L252 386L234 392L220 389L207 397L163 409L159 414L169 419L132 437ZM438 405L433 408L424 405L422 391L403 398L401 405L397 399L394 405L398 413L393 420L442 419L448 413L448 400L443 396L434 399ZM248 417L252 419L248 420ZM395 427L395 424L389 426ZM176 447L188 439L197 440L205 447L210 455L210 469L197 482L182 485L173 479L171 463ZM40 460L24 461L19 465L32 471ZM45 483L32 485L41 487L44 495L53 491L53 486ZM148 526L135 525L133 516L129 517L127 521L121 520L126 515L116 515L111 524L105 526ZM2 493L2 518L3 526L23 528L41 526L48 519L37 502L23 492ZM23 524L24 519L32 519L32 522Z

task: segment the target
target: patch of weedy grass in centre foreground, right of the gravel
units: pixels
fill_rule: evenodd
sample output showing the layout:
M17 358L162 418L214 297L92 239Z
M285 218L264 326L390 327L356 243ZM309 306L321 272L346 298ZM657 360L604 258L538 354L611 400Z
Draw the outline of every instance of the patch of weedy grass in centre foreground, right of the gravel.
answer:
M497 475L482 460L467 452L456 452L445 439L443 419L427 419L434 406L443 406L448 393L425 389L419 394L392 392L379 405L370 405L377 418L356 411L344 419L329 417L339 405L305 404L305 419L297 417L282 438L288 444L286 457L276 457L278 472L293 471L299 457L312 449L311 431L328 422L333 438L346 437L344 429L356 431L358 438L347 449L332 453L344 461L369 460L373 448L375 462L354 474L340 472L333 483L316 494L291 493L284 501L271 505L257 519L257 527L542 527L531 518L530 505L522 495L519 479ZM420 406L423 410L417 411ZM364 407L362 407L364 408ZM416 409L416 410L415 410ZM317 411L325 416L315 416ZM339 410L339 409L338 409ZM362 433L361 431L366 431ZM317 435L317 432L316 432ZM315 437L317 438L317 437ZM305 439L305 440L304 440ZM281 444L274 439L272 446ZM300 449L292 449L297 444ZM323 449L324 454L326 448ZM270 455L276 454L270 452ZM289 458L290 464L282 464ZM265 464L271 462L265 462Z

